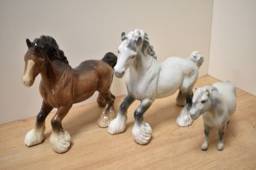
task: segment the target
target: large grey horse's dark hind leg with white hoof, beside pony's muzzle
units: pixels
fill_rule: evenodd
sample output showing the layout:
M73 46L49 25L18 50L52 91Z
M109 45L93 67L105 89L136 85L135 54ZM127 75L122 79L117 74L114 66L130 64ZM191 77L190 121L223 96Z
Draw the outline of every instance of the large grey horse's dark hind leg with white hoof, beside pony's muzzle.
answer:
M192 106L193 91L184 93L186 97L186 105L181 109L179 117L177 117L176 124L182 127L189 126L193 123L193 118L189 114L189 109Z

